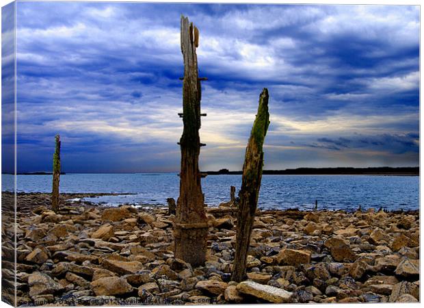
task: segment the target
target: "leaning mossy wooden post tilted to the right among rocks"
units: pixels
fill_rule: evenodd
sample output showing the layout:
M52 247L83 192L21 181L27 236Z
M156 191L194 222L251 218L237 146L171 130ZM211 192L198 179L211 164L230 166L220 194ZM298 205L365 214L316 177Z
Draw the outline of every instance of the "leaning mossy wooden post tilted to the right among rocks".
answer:
M263 89L259 97L258 114L254 120L252 132L244 157L243 178L241 180L239 211L237 216L237 233L233 274L231 280L246 279L246 259L250 245L250 235L254 222L254 213L261 188L263 167L263 141L269 125L268 90Z

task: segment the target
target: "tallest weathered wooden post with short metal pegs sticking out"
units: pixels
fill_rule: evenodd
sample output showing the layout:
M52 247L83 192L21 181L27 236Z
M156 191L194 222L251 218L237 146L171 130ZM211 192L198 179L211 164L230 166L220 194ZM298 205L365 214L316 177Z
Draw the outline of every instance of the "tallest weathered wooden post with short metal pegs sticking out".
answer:
M174 255L199 266L204 264L207 249L207 217L198 166L200 146L200 99L196 47L199 31L189 19L181 16L181 51L184 59L183 136L181 146L180 196L174 224Z

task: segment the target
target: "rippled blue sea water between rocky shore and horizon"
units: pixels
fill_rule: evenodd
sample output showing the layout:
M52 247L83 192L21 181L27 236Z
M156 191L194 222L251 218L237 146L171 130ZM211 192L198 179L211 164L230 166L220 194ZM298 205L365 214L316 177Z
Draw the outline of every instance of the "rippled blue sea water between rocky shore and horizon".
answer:
M2 190L10 190L10 175L2 176ZM51 175L18 175L21 192L51 192ZM230 185L241 186L241 175L209 175L202 179L208 205L219 205L230 196ZM176 173L66 174L60 177L61 192L113 192L118 196L85 198L95 203L118 205L166 204L166 198L178 197ZM367 175L263 175L259 207L354 210L361 205L387 209L419 208L419 177Z

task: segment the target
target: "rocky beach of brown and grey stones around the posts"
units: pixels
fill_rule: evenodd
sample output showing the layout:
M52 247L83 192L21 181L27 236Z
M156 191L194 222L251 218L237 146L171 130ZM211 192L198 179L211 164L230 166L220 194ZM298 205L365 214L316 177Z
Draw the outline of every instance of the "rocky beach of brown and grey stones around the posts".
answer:
M231 204L207 208L207 262L192 268L174 258L168 209L70 201L88 195L61 194L55 214L50 194L18 194L16 305L419 301L419 211L257 211L248 279L236 283ZM8 210L3 283L12 285Z

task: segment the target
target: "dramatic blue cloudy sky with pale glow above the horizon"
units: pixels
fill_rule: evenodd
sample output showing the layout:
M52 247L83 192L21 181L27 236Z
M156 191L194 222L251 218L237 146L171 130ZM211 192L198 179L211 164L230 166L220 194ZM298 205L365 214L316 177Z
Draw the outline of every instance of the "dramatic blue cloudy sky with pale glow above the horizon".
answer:
M264 87L265 169L419 165L418 6L18 2L18 172L51 170L55 133L64 172L178 171L181 14L201 170L241 170Z

